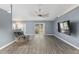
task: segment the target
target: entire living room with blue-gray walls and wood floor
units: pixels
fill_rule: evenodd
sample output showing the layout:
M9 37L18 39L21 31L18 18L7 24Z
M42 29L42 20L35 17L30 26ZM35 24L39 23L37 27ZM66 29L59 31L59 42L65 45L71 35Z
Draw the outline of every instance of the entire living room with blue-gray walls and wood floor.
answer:
M1 4L0 53L79 53L78 11L78 4Z

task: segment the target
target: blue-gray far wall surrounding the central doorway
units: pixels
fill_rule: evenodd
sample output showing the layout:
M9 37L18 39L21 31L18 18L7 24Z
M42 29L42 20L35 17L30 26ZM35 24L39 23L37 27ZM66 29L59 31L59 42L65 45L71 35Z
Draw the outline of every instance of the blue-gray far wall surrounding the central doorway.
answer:
M52 34L53 27L52 21L23 21L26 24L26 34L34 34L35 23L45 23L45 34Z

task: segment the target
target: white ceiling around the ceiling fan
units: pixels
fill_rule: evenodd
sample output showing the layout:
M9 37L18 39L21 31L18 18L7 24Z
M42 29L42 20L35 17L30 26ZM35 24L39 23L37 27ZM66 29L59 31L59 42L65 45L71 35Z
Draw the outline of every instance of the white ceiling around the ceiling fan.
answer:
M9 5L8 5L9 6ZM68 11L72 10L73 8L77 7L78 5L74 4L43 4L40 5L42 9L49 12L48 18L40 18L35 17L32 13L37 10L39 7L38 4L13 4L12 5L12 17L13 21L50 21L54 20L54 18L67 13ZM9 8L4 8L0 5L3 9L10 11Z

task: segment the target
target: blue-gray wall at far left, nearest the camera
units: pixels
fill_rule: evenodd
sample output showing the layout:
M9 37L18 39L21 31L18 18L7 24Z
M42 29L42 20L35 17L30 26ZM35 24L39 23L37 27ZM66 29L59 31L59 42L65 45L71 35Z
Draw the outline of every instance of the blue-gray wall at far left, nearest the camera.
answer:
M11 14L0 9L0 47L13 41L12 39L12 18Z

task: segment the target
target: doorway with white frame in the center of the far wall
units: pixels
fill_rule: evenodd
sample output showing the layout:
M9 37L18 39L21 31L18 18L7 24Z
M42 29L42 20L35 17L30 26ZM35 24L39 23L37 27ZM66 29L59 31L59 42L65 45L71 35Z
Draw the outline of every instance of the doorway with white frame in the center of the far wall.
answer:
M35 23L35 34L45 34L45 23Z

